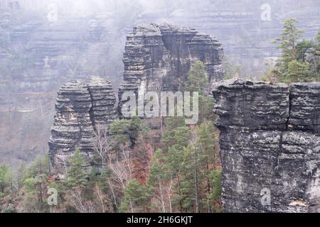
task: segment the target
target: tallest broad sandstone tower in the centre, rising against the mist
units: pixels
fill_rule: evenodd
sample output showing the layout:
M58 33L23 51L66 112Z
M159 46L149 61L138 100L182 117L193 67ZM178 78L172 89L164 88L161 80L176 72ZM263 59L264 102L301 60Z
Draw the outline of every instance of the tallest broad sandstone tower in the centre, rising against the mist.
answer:
M119 109L124 92L178 91L191 64L200 60L210 82L223 79L223 48L216 38L193 28L140 25L127 36L124 51L124 83L119 89Z

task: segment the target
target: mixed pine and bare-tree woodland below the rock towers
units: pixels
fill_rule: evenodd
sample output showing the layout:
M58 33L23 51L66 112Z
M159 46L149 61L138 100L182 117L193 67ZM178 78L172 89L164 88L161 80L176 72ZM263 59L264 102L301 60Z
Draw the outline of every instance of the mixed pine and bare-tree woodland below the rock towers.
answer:
M49 160L14 172L1 166L1 204L6 212L220 212L221 167L218 131L213 126L213 98L201 62L188 73L187 91L199 92L200 121L166 118L160 131L149 120L114 121L111 136L95 138L99 169L83 169L76 151L65 176L50 175ZM159 140L154 133L160 133ZM58 191L58 206L48 206L48 188Z

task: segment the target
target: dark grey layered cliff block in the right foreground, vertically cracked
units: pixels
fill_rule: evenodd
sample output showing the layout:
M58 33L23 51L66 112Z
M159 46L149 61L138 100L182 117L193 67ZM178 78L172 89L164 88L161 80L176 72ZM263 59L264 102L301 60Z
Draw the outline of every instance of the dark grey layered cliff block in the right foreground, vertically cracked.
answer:
M320 84L231 79L213 95L224 210L320 211Z

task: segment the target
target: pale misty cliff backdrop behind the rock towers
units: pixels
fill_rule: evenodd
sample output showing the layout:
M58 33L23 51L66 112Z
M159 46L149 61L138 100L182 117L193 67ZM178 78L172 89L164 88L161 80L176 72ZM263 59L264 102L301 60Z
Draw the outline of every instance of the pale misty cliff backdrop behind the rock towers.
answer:
M98 75L122 82L125 36L137 23L171 22L215 35L226 59L259 77L279 52L284 18L304 36L320 27L320 2L0 0L0 162L16 166L48 151L56 91Z

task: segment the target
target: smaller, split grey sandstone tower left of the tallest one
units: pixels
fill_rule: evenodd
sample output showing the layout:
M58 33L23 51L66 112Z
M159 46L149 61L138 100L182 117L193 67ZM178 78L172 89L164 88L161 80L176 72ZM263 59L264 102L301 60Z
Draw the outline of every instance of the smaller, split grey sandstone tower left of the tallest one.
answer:
M115 103L110 82L100 77L91 77L88 83L76 80L61 87L49 140L50 160L56 171L64 172L77 148L85 154L87 166L92 165L95 127L117 118Z

